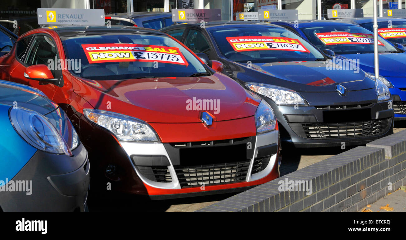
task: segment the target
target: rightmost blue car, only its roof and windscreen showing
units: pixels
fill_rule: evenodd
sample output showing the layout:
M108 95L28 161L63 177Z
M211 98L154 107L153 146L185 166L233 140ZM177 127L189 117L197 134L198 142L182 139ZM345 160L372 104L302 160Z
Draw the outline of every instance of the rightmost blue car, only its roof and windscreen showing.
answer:
M374 31L373 17L337 19L335 21L358 24L371 32ZM378 33L395 46L398 46L397 44L406 46L406 19L395 17L378 17Z

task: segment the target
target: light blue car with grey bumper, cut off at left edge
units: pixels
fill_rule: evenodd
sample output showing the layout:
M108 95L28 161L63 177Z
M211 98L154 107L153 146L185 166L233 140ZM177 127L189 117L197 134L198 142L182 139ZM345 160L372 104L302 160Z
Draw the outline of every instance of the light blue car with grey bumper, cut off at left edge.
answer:
M0 212L87 210L87 151L56 103L0 80L0 126Z

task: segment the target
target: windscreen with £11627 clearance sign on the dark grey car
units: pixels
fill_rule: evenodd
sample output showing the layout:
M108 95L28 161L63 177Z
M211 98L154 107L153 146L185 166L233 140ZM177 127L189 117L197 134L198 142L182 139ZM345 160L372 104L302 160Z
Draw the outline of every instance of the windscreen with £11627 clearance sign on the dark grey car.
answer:
M293 62L324 58L315 47L283 28L223 28L209 32L221 53L235 62Z

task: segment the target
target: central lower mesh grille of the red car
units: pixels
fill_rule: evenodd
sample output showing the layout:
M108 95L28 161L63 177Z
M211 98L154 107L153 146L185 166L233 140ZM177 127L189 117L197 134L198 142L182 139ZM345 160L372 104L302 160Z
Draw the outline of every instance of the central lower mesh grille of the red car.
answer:
M250 162L246 161L200 166L175 166L175 171L181 187L184 188L244 182L249 165Z

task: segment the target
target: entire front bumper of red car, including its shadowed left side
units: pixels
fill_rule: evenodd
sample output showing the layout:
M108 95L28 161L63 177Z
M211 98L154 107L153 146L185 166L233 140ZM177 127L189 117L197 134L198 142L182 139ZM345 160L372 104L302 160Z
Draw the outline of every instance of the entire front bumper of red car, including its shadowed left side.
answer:
M252 132L246 123L252 128L253 116L217 122L217 128L205 130L205 135L194 134L195 129L205 129L203 123L160 124L158 127L153 124L155 130L159 129L156 130L158 134L166 129L166 136L169 136L166 138L176 140L166 143L119 141L82 114L77 118L80 119L78 134L92 162L92 189L101 193L108 191L108 184L112 191L121 193L145 195L151 199L178 198L239 191L279 177L279 131L252 136L255 125ZM170 133L177 134L170 137ZM180 142L180 139L188 139L188 142ZM211 149L217 146L225 148ZM259 150L261 146L267 147ZM202 149L196 150L197 147ZM201 182L204 186L199 184Z

